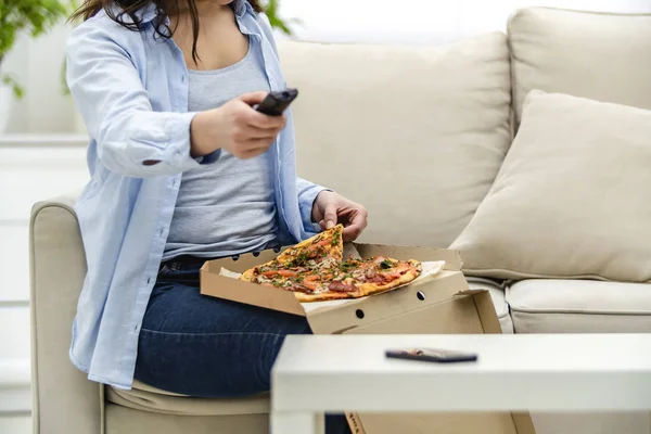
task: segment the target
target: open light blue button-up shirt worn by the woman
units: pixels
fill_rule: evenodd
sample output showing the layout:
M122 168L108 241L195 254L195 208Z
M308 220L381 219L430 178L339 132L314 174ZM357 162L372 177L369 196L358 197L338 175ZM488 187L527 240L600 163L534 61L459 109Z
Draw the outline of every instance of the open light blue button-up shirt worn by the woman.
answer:
M271 90L284 89L267 17L244 0L232 4L240 30L261 44ZM102 11L79 25L67 44L67 82L91 137L91 180L75 207L88 272L69 355L90 380L122 388L133 381L140 326L181 173L218 156L190 156L195 113L188 113L183 54L174 40L156 36L153 7L139 16L142 31L132 31ZM304 240L316 233L311 206L322 188L296 177L291 113L269 152L280 241Z

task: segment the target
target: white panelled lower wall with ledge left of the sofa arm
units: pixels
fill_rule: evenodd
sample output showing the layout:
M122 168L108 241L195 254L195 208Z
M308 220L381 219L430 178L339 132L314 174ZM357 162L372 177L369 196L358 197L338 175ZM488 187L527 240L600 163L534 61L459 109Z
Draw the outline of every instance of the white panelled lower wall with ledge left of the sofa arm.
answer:
M86 141L84 136L0 137L0 433L27 426L31 407L30 208L43 199L78 191L88 181Z

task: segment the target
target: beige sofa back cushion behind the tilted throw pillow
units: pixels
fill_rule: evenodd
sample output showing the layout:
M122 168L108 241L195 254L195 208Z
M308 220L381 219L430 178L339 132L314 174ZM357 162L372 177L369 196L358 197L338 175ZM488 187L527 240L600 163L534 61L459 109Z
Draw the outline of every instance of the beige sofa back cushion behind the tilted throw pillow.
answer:
M526 8L508 34L518 122L532 89L651 108L651 14Z

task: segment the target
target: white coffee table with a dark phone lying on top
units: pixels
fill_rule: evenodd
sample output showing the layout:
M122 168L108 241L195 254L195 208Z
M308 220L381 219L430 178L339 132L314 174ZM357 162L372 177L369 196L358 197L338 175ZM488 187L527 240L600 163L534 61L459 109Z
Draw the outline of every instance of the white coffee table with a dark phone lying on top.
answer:
M480 359L384 357L410 346ZM651 334L289 336L271 399L272 434L319 433L323 412L648 410Z

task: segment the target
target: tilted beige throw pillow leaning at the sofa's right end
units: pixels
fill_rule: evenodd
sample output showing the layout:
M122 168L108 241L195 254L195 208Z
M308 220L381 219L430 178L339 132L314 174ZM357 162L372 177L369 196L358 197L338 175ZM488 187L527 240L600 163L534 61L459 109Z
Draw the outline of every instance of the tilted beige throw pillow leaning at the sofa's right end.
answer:
M465 271L651 280L650 137L651 111L532 91L490 192L451 246Z

